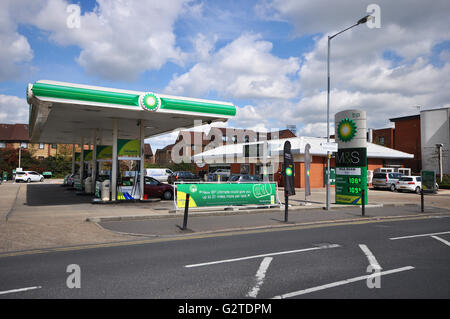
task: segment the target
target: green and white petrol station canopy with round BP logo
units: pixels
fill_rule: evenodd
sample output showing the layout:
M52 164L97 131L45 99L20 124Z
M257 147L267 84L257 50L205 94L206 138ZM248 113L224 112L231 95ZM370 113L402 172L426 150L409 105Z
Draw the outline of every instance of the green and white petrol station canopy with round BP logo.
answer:
M29 84L27 101L34 143L80 143L81 137L89 143L97 129L101 143L111 144L114 119L119 138L134 139L139 137L139 120L148 138L193 127L194 120L225 122L236 115L236 107L228 102L55 81Z

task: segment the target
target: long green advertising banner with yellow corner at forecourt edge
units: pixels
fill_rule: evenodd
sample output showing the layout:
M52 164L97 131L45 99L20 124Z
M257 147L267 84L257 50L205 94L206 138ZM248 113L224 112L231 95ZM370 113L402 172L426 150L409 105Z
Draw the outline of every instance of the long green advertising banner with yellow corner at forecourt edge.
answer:
M276 183L177 184L177 208L231 205L273 205L277 203Z

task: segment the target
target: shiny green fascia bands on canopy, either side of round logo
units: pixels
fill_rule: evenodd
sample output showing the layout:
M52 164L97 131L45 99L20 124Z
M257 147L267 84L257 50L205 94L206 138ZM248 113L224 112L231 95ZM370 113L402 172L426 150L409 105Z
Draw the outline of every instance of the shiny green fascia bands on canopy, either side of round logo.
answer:
M135 106L139 108L140 94L111 92L88 88L79 88L49 83L35 83L32 87L34 96L59 98L67 100L80 100L107 104ZM236 108L230 104L219 104L177 98L161 97L162 110L174 110L181 112L195 112L216 114L223 116L235 116Z

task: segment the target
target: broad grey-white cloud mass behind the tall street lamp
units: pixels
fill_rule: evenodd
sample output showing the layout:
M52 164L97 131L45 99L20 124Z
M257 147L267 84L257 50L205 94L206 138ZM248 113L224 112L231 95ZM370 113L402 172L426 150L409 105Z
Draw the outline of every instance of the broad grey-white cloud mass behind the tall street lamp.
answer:
M327 35L355 23L366 14L369 3L274 0L256 6L265 19L294 25L297 36L319 34L313 50L303 55L301 98L279 104L276 121L297 123L300 134L326 135ZM438 0L428 6L418 0L382 0L377 4L380 29L361 25L331 41L331 123L336 112L361 108L368 112L368 126L380 128L391 125L389 118L417 114L418 105L450 104L447 51L439 56L440 66L431 63L433 46L450 40L446 17L450 3ZM396 60L386 59L386 52ZM255 109L263 114L273 111L258 101Z

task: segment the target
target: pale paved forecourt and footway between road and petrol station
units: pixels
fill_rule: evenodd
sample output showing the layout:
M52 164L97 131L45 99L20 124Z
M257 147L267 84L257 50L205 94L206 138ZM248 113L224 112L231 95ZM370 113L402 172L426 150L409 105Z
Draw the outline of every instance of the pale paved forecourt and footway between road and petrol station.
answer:
M313 189L305 205L303 190L289 199L289 223L284 208L238 211L190 210L188 230L183 211L173 211L173 201L92 204L92 197L76 195L61 186L62 180L0 185L0 254L51 247L126 242L140 236L170 237L293 225L382 220L423 216L417 194L368 191L366 216L360 208L332 205L323 210L325 189ZM282 189L279 194L282 194ZM399 208L402 209L399 209ZM450 191L425 196L425 214L450 214Z

